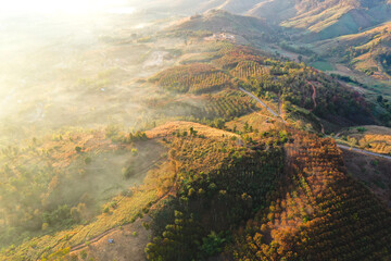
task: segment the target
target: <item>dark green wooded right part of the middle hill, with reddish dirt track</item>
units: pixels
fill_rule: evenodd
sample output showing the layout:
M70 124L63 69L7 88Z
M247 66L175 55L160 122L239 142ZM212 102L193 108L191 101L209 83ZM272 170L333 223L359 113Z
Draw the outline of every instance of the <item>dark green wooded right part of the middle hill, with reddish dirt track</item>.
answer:
M316 107L312 99L313 86ZM292 62L273 66L269 74L253 76L243 87L258 97L279 97L286 104L290 102L340 125L374 123L370 107L362 95L323 73L302 65L298 67ZM289 105L286 109L290 110Z

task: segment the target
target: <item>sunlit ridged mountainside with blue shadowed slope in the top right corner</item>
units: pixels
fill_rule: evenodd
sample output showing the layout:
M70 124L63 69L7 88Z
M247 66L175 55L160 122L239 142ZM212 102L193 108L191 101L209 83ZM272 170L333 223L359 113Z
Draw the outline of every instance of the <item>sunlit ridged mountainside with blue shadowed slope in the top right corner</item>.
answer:
M299 1L295 16L282 26L301 28L311 33L307 40L328 39L357 33L388 21L391 5L384 0L326 0ZM314 36L315 35L315 36Z

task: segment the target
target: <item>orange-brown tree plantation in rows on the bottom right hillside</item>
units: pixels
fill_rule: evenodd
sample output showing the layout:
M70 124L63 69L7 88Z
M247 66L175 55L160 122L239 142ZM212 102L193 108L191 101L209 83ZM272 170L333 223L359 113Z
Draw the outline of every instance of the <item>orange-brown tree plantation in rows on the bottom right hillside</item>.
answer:
M391 215L363 186L345 176L329 139L294 136L287 145L291 176L276 200L239 231L241 260L387 260Z

